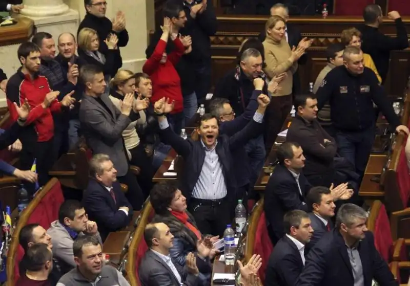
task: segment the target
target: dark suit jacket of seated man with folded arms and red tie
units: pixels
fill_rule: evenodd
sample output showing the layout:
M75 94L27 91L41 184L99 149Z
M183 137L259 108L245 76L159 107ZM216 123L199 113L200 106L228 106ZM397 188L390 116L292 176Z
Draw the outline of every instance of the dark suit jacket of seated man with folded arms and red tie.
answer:
M91 221L97 223L101 239L104 241L110 232L128 226L132 219L133 209L125 194L121 191L118 182L112 185L115 200L109 191L94 179L90 179L87 189L83 194L83 206ZM128 216L119 207L128 207Z

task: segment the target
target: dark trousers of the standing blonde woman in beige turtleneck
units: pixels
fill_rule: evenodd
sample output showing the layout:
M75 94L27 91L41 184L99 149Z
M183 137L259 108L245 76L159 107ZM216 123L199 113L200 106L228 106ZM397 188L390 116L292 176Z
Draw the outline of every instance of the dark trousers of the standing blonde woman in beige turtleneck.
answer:
M292 95L273 96L268 105L268 126L265 134L265 148L267 153L272 149L282 125L292 110Z

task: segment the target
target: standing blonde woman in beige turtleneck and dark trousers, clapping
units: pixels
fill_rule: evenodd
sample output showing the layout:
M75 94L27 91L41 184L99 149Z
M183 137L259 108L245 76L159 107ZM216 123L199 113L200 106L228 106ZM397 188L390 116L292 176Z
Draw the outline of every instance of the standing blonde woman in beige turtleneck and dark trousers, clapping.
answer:
M285 37L285 20L280 16L272 16L266 25L266 38L263 41L265 52L264 72L269 79L281 73L286 77L279 83L279 90L273 94L268 112L268 134L266 148L270 151L286 117L292 109L293 74L298 68L298 59L304 54L306 47L301 41L297 48L292 49Z

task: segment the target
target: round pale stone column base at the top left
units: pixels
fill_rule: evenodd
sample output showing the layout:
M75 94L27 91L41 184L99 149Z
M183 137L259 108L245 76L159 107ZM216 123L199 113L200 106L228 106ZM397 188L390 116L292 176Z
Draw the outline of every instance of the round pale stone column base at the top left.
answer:
M32 17L56 16L69 11L63 0L23 0L21 14Z

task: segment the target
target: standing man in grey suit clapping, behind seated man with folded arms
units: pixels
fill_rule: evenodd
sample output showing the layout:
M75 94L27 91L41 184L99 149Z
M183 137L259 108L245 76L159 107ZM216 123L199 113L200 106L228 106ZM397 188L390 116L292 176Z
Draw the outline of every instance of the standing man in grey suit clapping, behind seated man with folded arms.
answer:
M147 102L127 94L118 109L104 93L106 82L99 67L86 64L80 69L80 78L85 85L81 99L79 120L87 145L93 153L107 154L117 170L117 179L128 186L127 199L134 210L140 210L144 194L137 178L129 171L129 158L125 149L122 131L139 118L138 112L147 107Z

